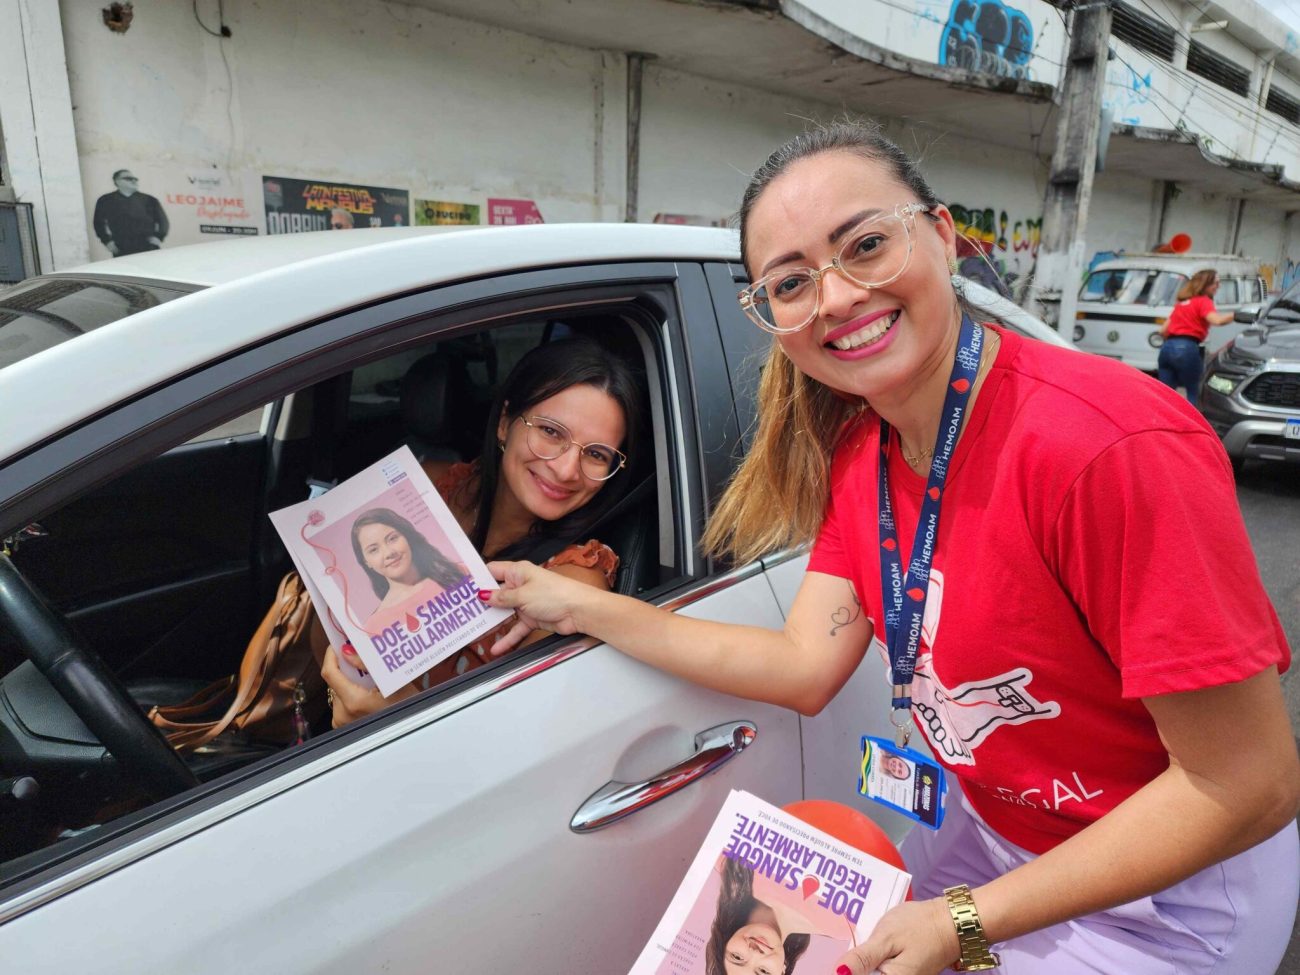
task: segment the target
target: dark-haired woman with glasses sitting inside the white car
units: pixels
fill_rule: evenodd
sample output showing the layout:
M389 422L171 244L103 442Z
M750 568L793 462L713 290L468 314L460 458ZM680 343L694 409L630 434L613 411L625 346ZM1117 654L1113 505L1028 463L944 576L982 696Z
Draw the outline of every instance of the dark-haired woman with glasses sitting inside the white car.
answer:
M619 556L589 533L630 486L625 473L618 474L637 448L638 390L632 369L595 341L549 342L520 359L502 385L480 458L425 463L425 472L485 558L541 558L569 580L612 589ZM389 698L350 680L334 654L326 654L321 676L334 727L480 667L495 636L480 638ZM361 667L351 647L343 654Z

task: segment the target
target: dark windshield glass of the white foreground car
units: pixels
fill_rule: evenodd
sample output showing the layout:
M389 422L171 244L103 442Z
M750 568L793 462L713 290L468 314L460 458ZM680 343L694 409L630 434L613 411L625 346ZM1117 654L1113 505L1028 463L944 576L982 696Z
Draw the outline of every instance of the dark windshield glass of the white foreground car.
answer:
M0 369L187 294L99 278L42 277L0 290Z

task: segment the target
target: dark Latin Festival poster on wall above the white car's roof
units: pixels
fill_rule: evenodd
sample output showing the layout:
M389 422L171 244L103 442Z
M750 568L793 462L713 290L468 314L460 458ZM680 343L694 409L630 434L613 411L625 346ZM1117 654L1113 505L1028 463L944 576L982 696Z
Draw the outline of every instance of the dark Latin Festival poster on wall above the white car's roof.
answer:
M411 196L384 186L264 176L268 234L406 226Z

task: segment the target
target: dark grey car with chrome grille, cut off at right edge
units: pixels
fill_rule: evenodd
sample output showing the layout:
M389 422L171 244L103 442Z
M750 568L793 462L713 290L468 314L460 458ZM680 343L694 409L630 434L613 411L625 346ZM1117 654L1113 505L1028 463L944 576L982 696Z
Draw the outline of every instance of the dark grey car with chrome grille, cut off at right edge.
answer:
M1201 412L1236 467L1300 460L1300 283L1235 317L1244 332L1210 356Z

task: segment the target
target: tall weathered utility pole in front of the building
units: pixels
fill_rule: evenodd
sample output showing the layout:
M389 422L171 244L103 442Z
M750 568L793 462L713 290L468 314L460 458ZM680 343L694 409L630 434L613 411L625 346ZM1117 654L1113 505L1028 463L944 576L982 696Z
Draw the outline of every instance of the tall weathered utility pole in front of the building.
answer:
M1084 230L1092 200L1101 125L1101 95L1110 53L1110 4L1088 0L1072 8L1070 53L1061 81L1061 108L1048 192L1043 202L1043 243L1034 295L1060 294L1057 329L1070 335L1086 260Z

